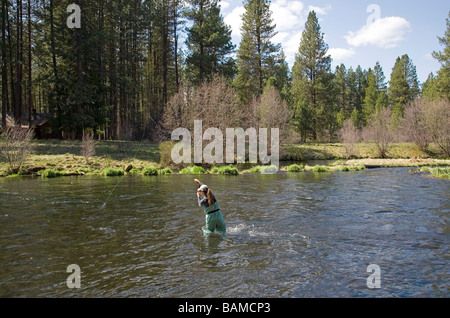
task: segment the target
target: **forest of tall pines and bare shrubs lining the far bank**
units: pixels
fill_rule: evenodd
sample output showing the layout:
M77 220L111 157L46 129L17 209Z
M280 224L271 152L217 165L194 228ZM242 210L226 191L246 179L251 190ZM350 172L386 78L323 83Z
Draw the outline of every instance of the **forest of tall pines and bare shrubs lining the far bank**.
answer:
M277 127L292 142L392 130L425 148L440 142L449 155L448 20L443 50L433 53L441 69L420 84L407 54L390 79L378 62L332 69L314 11L290 68L272 42L270 1L243 3L236 46L218 0L2 0L2 127L7 114L31 126L45 113L64 139L90 131L159 142L195 119L220 129ZM68 27L71 4L81 9L80 27Z

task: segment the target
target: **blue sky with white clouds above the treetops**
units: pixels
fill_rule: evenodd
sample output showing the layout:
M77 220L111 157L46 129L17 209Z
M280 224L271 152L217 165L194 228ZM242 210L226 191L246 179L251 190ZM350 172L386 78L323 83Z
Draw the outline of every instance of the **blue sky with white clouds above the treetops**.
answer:
M242 1L220 3L239 47ZM271 10L278 32L272 41L281 43L291 67L308 13L315 10L333 69L341 63L368 69L379 61L389 80L396 58L406 53L423 83L440 68L431 53L443 50L437 37L445 33L450 5L446 0L272 0Z

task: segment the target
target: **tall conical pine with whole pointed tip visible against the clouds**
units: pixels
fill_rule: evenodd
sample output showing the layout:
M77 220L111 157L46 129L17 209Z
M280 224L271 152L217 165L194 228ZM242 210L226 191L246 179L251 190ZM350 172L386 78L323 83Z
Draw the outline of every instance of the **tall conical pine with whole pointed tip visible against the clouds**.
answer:
M311 11L292 70L292 99L298 111L299 125L307 121L305 115L311 117L311 125L298 127L298 130L303 136L308 133L305 129L310 130L313 139L323 133L324 126L328 126L329 118L333 117L328 116L333 110L327 109L331 106L331 57L323 38L316 13Z

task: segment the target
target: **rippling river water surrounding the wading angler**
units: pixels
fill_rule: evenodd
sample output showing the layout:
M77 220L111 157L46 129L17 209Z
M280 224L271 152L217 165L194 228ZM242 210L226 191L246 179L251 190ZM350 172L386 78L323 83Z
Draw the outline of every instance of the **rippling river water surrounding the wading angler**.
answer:
M227 222L205 237L194 176L122 178L0 179L0 297L450 296L447 180L198 176Z

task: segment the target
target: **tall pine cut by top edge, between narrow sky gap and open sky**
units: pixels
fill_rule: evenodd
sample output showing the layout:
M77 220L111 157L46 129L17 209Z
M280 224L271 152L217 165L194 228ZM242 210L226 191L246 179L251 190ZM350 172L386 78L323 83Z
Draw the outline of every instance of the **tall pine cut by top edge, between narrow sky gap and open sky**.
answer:
M269 0L246 0L242 18L242 40L237 53L237 77L234 80L240 100L248 103L260 96L267 79L273 74L280 45L271 39L276 35Z

